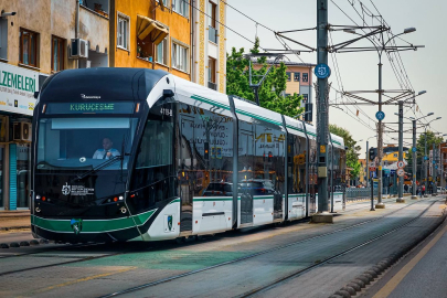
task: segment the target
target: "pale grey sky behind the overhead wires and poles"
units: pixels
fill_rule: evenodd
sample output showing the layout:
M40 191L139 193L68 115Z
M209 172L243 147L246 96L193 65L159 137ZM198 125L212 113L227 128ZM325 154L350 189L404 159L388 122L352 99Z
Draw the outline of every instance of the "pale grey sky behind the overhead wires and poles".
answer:
M228 0L227 3L256 22L247 19L236 10L227 7L226 10L226 49L227 52L232 47L244 47L246 51L252 47L257 35L260 40L260 46L264 49L284 49L284 45L277 41L275 34L263 28L265 25L274 31L287 31L313 28L317 24L317 4L316 1L302 0ZM340 8L338 8L337 6ZM354 6L351 6L351 4ZM401 35L403 40L414 45L424 45L425 47L417 51L401 52L402 65L400 61L394 58L396 72L400 74L400 79L396 78L393 67L384 54L382 57L383 63L383 89L413 89L416 94L421 91L427 93L416 97L416 104L419 110L404 108L405 117L422 117L428 113L435 113L434 116L426 119L435 119L443 117L443 119L435 120L430 124L433 131L447 134L447 105L444 103L444 94L446 88L446 68L447 58L447 34L445 18L447 13L447 1L445 0L329 0L328 19L332 25L354 25L354 22L362 24L362 18L355 12L354 8L362 14L361 6L368 8L375 15L380 14L391 26L394 34L401 33L406 28L416 28L416 32ZM374 9L379 10L379 12ZM343 13L344 12L344 13ZM352 20L350 20L351 18ZM365 21L369 25L377 25L376 18L368 17ZM262 25L260 25L262 24ZM245 36L246 39L240 36ZM360 30L356 32L361 33ZM331 32L333 44L351 40L355 35L345 32ZM297 40L311 47L317 46L317 31L305 31L299 33L289 33L287 36ZM394 39L397 45L407 45L406 42ZM302 46L287 42L294 50L304 50ZM369 41L358 42L352 46L371 46ZM301 62L297 55L288 55L290 61ZM306 63L317 63L317 53L301 53L299 57ZM337 60L338 67L334 61ZM362 52L362 53L339 53L334 57L329 55L329 66L332 70L329 82L332 82L332 87L339 91L376 91L379 89L379 55L377 52ZM400 65L400 66L397 66ZM339 70L340 79L337 78L336 71ZM402 81L402 77L404 81ZM443 83L444 82L444 83ZM392 94L389 94L392 95ZM377 100L377 94L363 94L362 96ZM315 98L315 92L312 93ZM330 102L347 102L340 99L340 95L332 91L329 97ZM329 109L329 121L340 127L348 129L353 136L354 140L362 140L359 145L362 147L361 158L364 158L365 142L369 139L370 147L376 147L375 138L375 113L379 110L377 106L359 106L361 110L356 116L356 107L354 106L340 106L341 109L331 107ZM350 111L348 111L348 109ZM397 106L384 106L385 113L384 123L397 123ZM316 106L315 106L316 110ZM415 113L415 114L414 114ZM316 116L313 115L313 119ZM316 121L315 121L316 123ZM389 127L397 128L394 124L389 124ZM411 120L405 120L404 130L411 129ZM421 132L422 128L417 132ZM397 143L397 134L385 134L384 143ZM404 134L404 141L412 141L411 131ZM408 146L404 143L404 146ZM409 146L408 146L409 147Z

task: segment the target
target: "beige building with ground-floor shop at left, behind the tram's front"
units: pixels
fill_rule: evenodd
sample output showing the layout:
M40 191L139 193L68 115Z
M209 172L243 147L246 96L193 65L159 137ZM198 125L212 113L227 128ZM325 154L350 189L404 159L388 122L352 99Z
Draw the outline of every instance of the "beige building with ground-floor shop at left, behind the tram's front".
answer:
M108 0L95 2L102 6L0 0L0 209L29 207L34 92L62 70L108 64ZM81 58L71 56L76 33L84 41Z

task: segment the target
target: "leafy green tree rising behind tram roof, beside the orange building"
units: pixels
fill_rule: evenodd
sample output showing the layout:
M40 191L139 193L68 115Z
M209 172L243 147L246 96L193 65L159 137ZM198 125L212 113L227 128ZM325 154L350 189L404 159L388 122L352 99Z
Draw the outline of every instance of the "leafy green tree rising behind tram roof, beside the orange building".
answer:
M252 54L259 53L259 39L256 39ZM257 63L262 65L259 70L254 70L252 66L252 83L256 84L262 79L262 76L267 73L268 65L265 56L257 58ZM236 95L252 102L255 100L253 89L249 87L249 58L244 54L244 47L236 51L232 49L231 54L226 54L226 94ZM294 95L285 96L287 84L286 65L281 62L279 66L272 67L267 77L258 89L259 105L264 108L277 111L289 117L295 117L304 111L300 107L302 96L294 93Z

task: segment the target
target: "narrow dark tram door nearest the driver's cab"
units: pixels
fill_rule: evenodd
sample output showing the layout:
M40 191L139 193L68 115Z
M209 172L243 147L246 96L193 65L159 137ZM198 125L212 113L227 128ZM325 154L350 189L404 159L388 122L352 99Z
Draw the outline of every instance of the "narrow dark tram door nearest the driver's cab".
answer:
M192 231L192 200L194 196L194 121L182 117L180 138L180 232Z

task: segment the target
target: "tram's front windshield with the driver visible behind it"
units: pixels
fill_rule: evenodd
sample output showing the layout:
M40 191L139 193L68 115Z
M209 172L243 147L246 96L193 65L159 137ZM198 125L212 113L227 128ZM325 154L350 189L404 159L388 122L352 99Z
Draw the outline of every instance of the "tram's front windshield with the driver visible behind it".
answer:
M128 153L137 118L43 118L39 124L38 170L92 170L107 160ZM102 170L121 169L108 162Z

